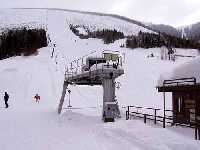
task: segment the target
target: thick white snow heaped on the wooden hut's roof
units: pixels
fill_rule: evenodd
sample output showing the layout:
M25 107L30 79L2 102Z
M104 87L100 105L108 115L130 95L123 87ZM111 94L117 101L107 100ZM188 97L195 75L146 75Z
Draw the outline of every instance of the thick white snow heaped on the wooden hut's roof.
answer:
M192 77L196 78L197 83L200 83L200 56L178 66L172 72L162 74L158 80L158 86L162 86L164 80Z

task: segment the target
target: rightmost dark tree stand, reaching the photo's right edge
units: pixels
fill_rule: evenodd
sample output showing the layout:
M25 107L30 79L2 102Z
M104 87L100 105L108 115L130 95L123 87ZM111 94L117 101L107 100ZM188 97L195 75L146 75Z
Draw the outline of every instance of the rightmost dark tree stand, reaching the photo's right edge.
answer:
M155 34L140 31L137 36L129 36L126 40L127 48L153 48L163 45L176 48L200 49L200 43L194 40L170 36L164 33Z

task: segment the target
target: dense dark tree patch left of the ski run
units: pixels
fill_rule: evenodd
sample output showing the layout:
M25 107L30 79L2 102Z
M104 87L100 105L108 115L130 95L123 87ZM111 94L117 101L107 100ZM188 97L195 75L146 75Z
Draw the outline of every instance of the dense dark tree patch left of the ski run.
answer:
M0 59L18 55L34 54L38 48L47 46L44 29L9 29L0 35Z

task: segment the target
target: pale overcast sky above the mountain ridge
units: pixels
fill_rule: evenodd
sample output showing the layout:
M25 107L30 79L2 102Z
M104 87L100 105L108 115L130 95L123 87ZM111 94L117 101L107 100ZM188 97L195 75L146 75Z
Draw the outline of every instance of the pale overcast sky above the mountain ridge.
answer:
M200 0L0 0L2 8L48 7L113 13L175 27L200 22Z

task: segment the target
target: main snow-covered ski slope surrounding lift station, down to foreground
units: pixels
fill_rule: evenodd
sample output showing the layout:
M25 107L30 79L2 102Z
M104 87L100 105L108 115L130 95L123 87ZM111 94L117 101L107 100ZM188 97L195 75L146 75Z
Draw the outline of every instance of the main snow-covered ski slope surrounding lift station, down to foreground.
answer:
M30 18L26 16L28 10L18 11L25 14L24 17L20 15L21 22L33 21L31 16ZM31 11L31 14L34 14L34 11ZM15 13L17 14L16 10ZM39 10L36 11L36 16L38 14L41 15ZM61 96L64 65L91 51L101 52L109 49L125 53L125 75L117 80L121 82L121 88L116 91L120 107L138 105L162 108L162 94L156 91L160 74L192 58L179 58L176 62L161 61L160 48L131 50L120 48L124 40L105 45L98 39L79 39L69 30L69 21L90 25L92 20L93 24L96 20L100 21L99 16L92 15L91 18L88 16L91 19L88 23L86 20L81 22L84 15L80 13L76 15L71 12L47 11L46 14L47 16L41 15L44 19L39 23L46 23L52 44L56 44L54 57L50 57L52 47L49 46L40 49L37 56L20 56L0 61L1 100L4 91L10 95L9 109L5 109L1 101L0 149L200 149L200 143L193 138L193 130L180 127L163 129L161 126L154 126L153 123L145 125L142 120L126 121L123 108L121 108L123 116L121 119L115 123L103 123L101 121L103 96L100 86L70 86L71 105L74 109L64 109L59 116L56 109ZM80 20L76 22L78 18ZM37 19L34 21L37 22ZM112 24L114 27L119 22L120 20L109 23L108 27L111 28ZM126 26L126 22L121 22L121 25L123 24ZM196 50L177 49L177 51L181 54L187 51L197 55ZM152 52L155 57L147 58ZM39 104L33 100L36 93L41 96ZM167 104L170 109L170 102ZM68 97L64 105L67 107Z

